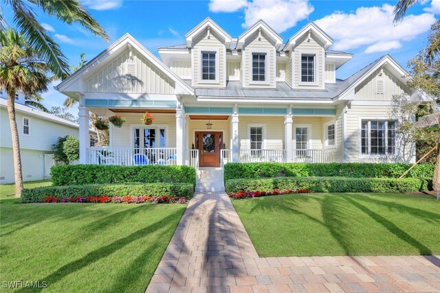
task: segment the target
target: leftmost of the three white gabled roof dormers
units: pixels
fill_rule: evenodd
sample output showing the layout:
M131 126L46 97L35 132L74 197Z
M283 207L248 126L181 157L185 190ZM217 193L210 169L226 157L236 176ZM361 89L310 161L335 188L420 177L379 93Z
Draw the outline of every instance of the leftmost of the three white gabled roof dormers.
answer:
M185 35L191 50L191 85L226 86L226 48L231 36L209 17Z

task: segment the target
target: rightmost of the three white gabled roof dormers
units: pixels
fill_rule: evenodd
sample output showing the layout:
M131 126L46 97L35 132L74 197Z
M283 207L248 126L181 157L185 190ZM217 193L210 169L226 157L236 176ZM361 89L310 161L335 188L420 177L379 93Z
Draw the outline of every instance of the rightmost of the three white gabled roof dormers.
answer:
M283 51L292 69L287 80L292 89L325 89L325 51L332 44L333 40L312 21L287 40ZM336 67L327 69L335 71Z

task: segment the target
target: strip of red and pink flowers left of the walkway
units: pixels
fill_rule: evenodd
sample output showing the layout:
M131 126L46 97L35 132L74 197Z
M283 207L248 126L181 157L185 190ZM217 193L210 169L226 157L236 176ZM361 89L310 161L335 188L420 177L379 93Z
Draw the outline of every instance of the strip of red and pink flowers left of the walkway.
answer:
M41 202L45 203L53 203L53 202L80 202L80 203L136 203L142 204L145 202L149 203L179 203L186 204L186 197L182 196L181 198L177 198L175 196L113 196L112 198L109 196L91 196L89 198L85 198L82 196L77 196L76 198L61 198L58 199L54 196L47 196L41 200Z

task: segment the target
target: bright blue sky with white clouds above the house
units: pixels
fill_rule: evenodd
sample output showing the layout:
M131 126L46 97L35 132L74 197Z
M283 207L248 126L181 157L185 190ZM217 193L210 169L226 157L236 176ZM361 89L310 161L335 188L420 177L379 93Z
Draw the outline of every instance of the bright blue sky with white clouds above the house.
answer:
M184 35L207 16L232 37L263 19L285 40L308 21L316 21L333 38L331 49L353 54L353 59L338 70L337 76L342 79L384 54L391 54L406 67L408 60L426 44L430 25L440 15L440 0L421 0L398 25L393 24L392 12L397 1L83 0L82 3L107 31L110 43L129 32L156 55L157 47L185 43ZM10 11L3 11L8 24L14 25ZM80 25L66 25L39 10L36 12L72 65L78 65L81 52L85 52L86 60L91 60L110 45ZM60 106L65 98L53 89L43 97L49 107Z

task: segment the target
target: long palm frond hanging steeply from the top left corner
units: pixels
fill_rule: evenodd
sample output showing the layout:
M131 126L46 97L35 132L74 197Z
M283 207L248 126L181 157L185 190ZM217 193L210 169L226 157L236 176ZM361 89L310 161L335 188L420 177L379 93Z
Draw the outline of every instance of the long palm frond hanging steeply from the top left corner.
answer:
M63 1L60 1L63 2ZM41 58L47 61L47 66L58 76L68 73L69 65L60 46L47 34L46 30L36 21L34 11L22 0L9 2L14 11L14 22L27 38L28 43Z

